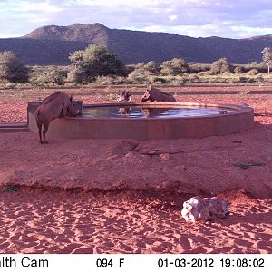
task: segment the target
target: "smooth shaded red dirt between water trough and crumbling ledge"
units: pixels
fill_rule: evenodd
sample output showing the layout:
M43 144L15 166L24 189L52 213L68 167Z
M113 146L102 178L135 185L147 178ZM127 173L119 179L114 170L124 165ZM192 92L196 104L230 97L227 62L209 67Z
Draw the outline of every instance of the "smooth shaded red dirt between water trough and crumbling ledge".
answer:
M49 139L0 134L0 184L40 188L149 189L214 193L247 189L271 198L271 126L237 134L161 141Z

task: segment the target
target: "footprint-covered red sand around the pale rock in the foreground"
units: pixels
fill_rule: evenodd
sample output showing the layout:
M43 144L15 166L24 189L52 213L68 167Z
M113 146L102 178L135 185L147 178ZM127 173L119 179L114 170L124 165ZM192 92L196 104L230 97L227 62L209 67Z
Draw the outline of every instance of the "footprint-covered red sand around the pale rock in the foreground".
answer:
M0 253L271 253L271 199L239 191L228 219L186 224L185 196L2 192Z

